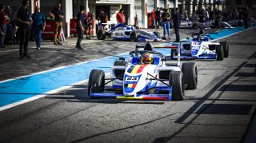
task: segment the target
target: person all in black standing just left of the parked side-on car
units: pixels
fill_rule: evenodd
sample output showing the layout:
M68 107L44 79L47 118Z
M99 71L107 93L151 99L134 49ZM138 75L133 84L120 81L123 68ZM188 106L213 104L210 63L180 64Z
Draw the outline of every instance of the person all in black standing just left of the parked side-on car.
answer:
M84 31L85 31L85 12L86 10L86 7L85 6L80 6L80 12L78 13L78 16L77 16L77 31L78 31L78 42L77 42L77 45L75 46L78 50L82 50L82 46L81 46L81 41L83 39L83 34L84 34Z

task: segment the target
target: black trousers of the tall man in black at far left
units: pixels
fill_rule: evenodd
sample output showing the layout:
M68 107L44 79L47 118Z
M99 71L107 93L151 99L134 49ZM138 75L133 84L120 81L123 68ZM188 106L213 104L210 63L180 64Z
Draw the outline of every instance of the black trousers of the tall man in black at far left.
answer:
M19 55L20 57L27 56L27 46L30 38L30 28L20 27L19 31Z

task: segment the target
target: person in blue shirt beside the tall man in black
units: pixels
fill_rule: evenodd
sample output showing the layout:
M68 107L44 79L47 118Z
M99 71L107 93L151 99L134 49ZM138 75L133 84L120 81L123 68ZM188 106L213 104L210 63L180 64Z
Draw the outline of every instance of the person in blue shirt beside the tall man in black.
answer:
M37 49L40 50L41 48L41 38L42 38L42 31L46 28L46 18L44 14L40 12L40 7L36 6L34 10L34 14L32 14L32 30L34 33L34 39L37 44Z

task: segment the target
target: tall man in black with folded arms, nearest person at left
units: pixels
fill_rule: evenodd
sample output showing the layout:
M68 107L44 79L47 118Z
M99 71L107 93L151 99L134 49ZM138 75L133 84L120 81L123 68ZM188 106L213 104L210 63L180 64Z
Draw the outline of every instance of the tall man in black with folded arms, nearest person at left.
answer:
M30 27L33 23L29 12L30 1L23 0L22 7L18 10L17 20L19 29L19 54L20 58L30 58L28 55L28 43L30 38Z

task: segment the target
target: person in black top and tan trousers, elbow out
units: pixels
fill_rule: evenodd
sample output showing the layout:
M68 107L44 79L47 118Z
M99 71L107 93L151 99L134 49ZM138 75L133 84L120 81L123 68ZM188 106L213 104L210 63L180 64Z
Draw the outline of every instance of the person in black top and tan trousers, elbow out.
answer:
M54 18L55 30L54 30L54 45L62 45L60 42L62 32L62 19L63 16L62 4L58 2L58 6L54 10L50 11L50 16Z

